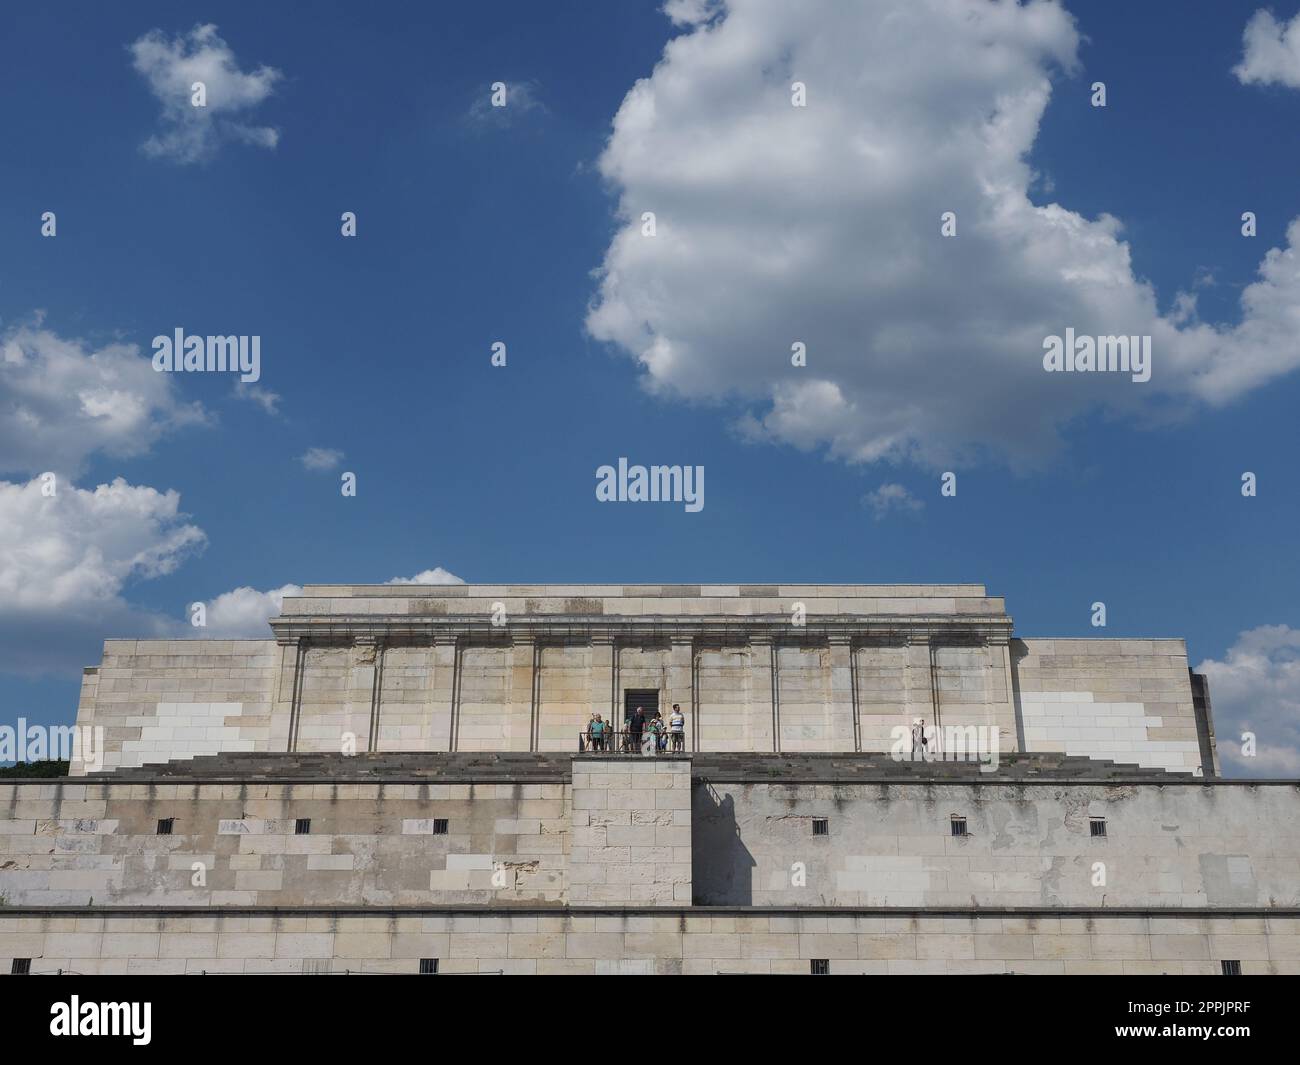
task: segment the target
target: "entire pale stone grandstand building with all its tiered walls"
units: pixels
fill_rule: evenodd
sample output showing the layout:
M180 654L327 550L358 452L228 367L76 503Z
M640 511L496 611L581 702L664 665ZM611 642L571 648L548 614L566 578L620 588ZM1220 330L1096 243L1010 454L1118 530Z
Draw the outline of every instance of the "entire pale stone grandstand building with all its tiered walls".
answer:
M1180 640L980 585L317 585L270 632L107 641L98 741L0 782L0 965L1300 971L1296 782L1219 778ZM672 703L681 753L585 740Z

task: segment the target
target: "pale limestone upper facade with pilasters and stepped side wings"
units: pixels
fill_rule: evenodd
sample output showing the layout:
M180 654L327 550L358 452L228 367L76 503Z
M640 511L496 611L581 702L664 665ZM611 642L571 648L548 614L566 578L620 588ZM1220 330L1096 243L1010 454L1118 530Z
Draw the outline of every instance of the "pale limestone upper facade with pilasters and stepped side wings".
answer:
M573 752L653 693L698 752L1004 752L1217 772L1182 640L1017 638L982 585L312 585L266 640L108 640L103 762L217 752Z

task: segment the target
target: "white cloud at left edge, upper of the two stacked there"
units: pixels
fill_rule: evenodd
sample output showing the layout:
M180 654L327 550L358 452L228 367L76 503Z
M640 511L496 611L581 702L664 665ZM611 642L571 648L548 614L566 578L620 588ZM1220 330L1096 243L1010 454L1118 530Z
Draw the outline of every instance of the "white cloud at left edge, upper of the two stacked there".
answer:
M168 429L205 424L134 345L99 350L47 329L0 337L0 472L78 473L95 451L129 458Z

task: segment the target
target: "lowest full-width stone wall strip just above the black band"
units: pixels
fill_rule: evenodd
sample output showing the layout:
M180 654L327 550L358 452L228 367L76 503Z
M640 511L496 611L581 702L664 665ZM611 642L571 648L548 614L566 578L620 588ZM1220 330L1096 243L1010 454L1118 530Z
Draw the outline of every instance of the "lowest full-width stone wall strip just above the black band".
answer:
M798 914L689 910L330 914L0 912L0 966L32 973L1300 973L1296 917Z

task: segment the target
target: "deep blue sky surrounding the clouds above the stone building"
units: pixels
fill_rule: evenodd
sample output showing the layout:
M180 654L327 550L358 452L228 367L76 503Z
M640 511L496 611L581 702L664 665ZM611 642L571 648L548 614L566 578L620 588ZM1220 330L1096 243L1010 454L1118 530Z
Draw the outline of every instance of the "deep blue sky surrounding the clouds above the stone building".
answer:
M997 434L974 459L944 462L920 441L862 462L815 436L746 438L737 420L762 401L672 380L656 394L627 350L593 335L593 272L634 186L602 177L611 122L671 39L707 29L658 7L317 4L308 17L60 3L6 16L5 38L26 44L0 69L0 335L48 330L87 352L135 345L143 360L178 326L259 334L259 384L280 401L269 412L229 377L176 375L173 415L199 403L202 419L146 433L135 454L118 441L68 463L83 490L116 477L176 490L205 546L178 553L170 572L118 571L108 606L52 596L43 611L40 588L22 588L27 606L0 619L14 651L0 719L72 720L74 663L96 662L105 636L136 635L109 623L179 622L187 603L239 586L445 567L471 581L983 581L1020 635L1184 636L1193 664L1234 671L1231 709L1212 688L1221 733L1269 720L1288 743L1275 697L1296 675L1300 628L1290 368L1230 401L1184 403L1176 419L1123 403L1067 411L1060 446L1026 440L1024 464ZM1235 325L1243 287L1300 215L1300 91L1232 73L1257 7L1197 5L1192 18L1175 3L1067 4L1078 64L1044 65L1052 98L1027 155L1030 196L1118 218L1161 315L1196 286L1200 319ZM129 46L200 23L218 27L240 70L280 72L239 116L278 130L273 148L229 139L188 164L142 151L160 100ZM1104 109L1089 105L1098 79ZM485 113L494 81L536 105ZM816 107L829 90L809 82ZM710 105L697 103L706 118ZM57 213L53 239L40 235L44 211ZM343 211L358 213L355 239L339 235ZM1243 211L1257 213L1253 239ZM916 295L936 309L949 298ZM489 363L494 341L508 346L503 369ZM942 345L954 367L971 364L965 343L954 332ZM774 337L777 359L788 347ZM923 406L927 381L946 372L936 364L902 399ZM304 468L309 447L343 453L341 464ZM620 455L703 466L705 508L597 502L594 471ZM52 468L0 466L13 484ZM939 494L948 468L956 498ZM358 475L356 498L341 495L342 471ZM1243 471L1258 477L1256 498L1242 497ZM864 497L883 484L915 502L878 515ZM6 576L35 580L25 573ZM1104 631L1089 624L1098 599ZM1261 627L1286 629L1231 664ZM32 632L57 642L57 661L35 672L22 648Z

